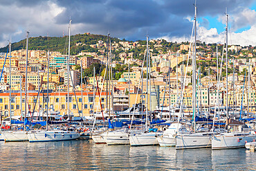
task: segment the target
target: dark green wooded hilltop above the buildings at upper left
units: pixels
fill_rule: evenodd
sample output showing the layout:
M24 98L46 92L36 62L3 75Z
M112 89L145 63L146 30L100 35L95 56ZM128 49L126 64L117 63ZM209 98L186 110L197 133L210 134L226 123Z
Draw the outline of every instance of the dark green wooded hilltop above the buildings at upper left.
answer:
M77 55L81 51L98 52L98 49L91 48L90 44L97 44L99 40L107 42L107 36L105 35L72 35L71 36L71 55ZM111 37L111 41L120 42L118 38ZM86 44L85 46L75 46L76 43L81 42ZM29 50L44 50L44 51L59 51L62 54L67 53L68 36L64 37L30 37L28 49ZM1 53L6 53L8 46L0 48ZM26 39L20 42L12 43L12 51L26 48Z

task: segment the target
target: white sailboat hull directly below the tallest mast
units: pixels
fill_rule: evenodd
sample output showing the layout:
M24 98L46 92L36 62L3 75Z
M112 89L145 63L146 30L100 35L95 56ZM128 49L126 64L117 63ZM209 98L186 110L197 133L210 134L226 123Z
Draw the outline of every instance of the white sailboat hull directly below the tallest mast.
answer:
M176 136L176 150L212 147L212 136L185 134Z

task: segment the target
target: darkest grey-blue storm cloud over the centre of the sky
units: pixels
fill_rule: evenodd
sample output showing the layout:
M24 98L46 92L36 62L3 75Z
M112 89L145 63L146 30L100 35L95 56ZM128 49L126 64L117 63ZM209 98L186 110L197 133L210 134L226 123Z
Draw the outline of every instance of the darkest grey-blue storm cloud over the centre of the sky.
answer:
M148 31L152 37L189 35L191 23L184 17L194 15L193 0L107 0L107 1L56 1L66 8L55 21L64 24L68 16L74 23L95 26L101 34L108 31L116 37L145 39ZM223 15L225 8L249 6L252 0L197 1L200 17ZM203 20L204 21L204 20ZM207 21L202 24L207 24ZM93 30L92 30L93 31Z

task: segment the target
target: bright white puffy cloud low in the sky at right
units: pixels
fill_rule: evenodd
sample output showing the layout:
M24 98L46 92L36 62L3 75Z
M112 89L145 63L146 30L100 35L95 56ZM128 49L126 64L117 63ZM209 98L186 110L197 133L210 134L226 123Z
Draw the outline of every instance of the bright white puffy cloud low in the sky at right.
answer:
M249 8L239 8L239 13L235 13L235 15L229 15L230 25L233 28L230 28L228 32L228 44L239 44L241 46L256 46L256 12L255 10L251 10ZM192 21L190 17L186 17L184 19L188 19L188 21ZM219 16L219 21L222 24L226 24L226 16ZM207 29L203 26L199 26L197 28L197 39L201 40L201 42L206 43L221 43L225 42L226 31L222 33L217 32L217 28ZM235 33L235 31L239 28L244 28L246 26L250 26L248 30L244 30L241 33ZM161 37L163 39L167 39L172 42L185 42L189 41L190 37Z

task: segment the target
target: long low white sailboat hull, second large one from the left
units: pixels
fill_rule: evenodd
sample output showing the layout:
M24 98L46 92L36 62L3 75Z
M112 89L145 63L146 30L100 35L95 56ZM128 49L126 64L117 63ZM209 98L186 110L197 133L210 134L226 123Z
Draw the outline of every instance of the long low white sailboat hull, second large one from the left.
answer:
M46 141L68 141L80 137L77 132L30 132L28 133L29 142L46 142Z

